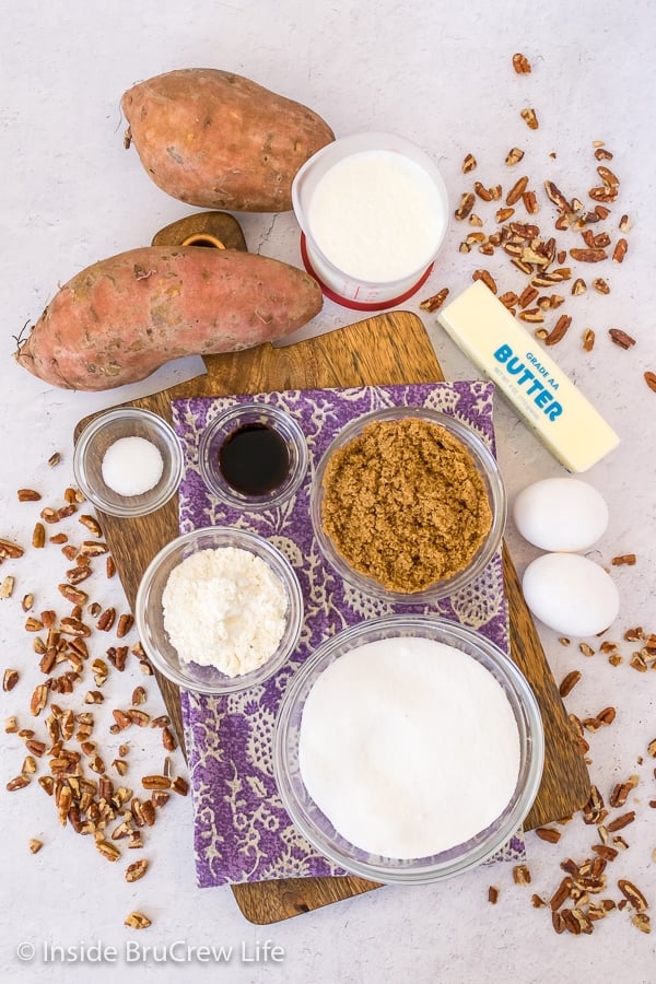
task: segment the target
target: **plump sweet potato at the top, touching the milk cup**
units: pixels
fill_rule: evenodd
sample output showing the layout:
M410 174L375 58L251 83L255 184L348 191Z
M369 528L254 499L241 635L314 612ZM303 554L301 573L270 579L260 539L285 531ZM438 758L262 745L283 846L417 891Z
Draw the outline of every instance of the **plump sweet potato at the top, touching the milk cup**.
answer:
M219 69L155 75L124 93L121 107L126 145L147 174L201 208L291 209L296 172L335 140L312 109Z

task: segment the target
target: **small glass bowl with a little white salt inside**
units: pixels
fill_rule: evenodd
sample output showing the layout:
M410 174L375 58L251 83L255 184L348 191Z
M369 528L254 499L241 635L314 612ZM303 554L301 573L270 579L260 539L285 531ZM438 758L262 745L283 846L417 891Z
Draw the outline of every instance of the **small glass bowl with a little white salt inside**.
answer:
M98 414L73 456L79 488L102 513L133 518L161 508L178 489L183 449L163 418L137 407Z

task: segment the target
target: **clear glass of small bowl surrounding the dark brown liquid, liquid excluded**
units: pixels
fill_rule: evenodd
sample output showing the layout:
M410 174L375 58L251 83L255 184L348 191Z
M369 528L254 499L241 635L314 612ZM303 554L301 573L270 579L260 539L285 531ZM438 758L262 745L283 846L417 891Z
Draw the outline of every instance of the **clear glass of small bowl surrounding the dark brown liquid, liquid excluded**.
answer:
M219 453L236 431L250 425L270 427L286 446L289 467L284 480L261 494L245 494L231 485L219 467ZM261 509L280 505L301 487L307 471L308 453L305 435L291 414L268 403L239 403L222 410L207 425L198 448L200 473L216 499L241 509Z

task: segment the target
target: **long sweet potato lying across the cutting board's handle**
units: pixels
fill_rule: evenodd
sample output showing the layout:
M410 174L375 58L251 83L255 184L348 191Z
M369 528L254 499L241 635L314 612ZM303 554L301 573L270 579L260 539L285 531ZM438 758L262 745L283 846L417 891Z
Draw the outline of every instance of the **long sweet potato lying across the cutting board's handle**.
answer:
M145 246L69 280L16 358L55 386L112 389L180 355L282 338L320 308L316 281L279 260L236 249Z

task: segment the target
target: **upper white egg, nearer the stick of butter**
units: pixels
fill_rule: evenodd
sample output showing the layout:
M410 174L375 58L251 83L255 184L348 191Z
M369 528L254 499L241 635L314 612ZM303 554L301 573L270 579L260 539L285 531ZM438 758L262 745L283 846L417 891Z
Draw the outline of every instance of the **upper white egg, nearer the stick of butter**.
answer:
M515 526L541 550L587 550L608 526L601 494L575 478L542 479L527 485L513 504Z

